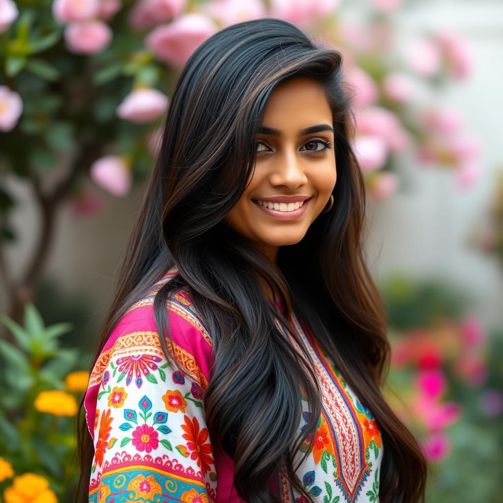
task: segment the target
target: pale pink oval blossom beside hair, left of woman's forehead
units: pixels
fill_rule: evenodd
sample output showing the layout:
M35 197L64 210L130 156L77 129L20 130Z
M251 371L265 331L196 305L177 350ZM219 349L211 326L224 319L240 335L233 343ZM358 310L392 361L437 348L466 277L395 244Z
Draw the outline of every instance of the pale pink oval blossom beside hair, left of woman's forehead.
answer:
M133 122L150 122L162 115L167 97L156 89L135 89L117 107L117 116Z

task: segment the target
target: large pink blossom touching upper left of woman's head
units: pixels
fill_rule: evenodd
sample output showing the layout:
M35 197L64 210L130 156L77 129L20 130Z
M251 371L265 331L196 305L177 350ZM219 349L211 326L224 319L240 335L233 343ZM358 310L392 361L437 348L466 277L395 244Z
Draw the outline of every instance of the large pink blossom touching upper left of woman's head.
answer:
M161 61L182 67L216 30L215 23L207 16L184 14L173 23L155 28L145 38L145 44Z

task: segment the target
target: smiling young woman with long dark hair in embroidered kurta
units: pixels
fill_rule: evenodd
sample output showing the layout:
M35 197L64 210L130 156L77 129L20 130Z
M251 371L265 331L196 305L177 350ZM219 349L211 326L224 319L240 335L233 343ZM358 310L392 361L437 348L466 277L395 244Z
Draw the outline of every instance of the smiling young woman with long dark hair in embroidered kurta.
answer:
M381 393L341 64L260 19L183 68L83 400L80 500L424 501Z

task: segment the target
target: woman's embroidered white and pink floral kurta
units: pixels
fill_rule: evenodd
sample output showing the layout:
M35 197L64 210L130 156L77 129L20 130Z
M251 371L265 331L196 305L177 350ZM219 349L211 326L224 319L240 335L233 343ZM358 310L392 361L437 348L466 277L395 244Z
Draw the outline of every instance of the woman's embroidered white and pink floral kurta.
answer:
M89 501L242 501L233 484L233 460L206 427L202 396L211 378L212 342L183 290L167 306L182 370L161 349L153 299L176 272L167 271L127 311L91 372L84 402L95 449ZM376 502L383 455L378 424L303 320L293 313L289 321L322 390L316 438L297 475L316 502ZM300 429L308 420L304 405ZM306 503L281 474L270 485L284 503Z

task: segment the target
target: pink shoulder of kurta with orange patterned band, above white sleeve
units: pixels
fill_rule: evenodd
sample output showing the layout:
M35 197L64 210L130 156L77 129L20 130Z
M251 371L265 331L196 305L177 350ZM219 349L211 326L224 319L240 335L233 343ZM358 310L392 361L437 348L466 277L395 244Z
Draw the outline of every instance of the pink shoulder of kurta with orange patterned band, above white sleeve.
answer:
M155 323L153 302L157 290L176 276L170 269L152 284L121 317L110 333L91 372L90 386L101 381L112 356L157 354L162 356L160 336ZM167 349L183 370L203 389L210 378L212 341L190 294L179 289L166 303L170 337L164 334ZM95 382L96 381L96 382Z

